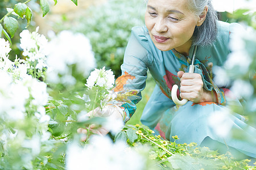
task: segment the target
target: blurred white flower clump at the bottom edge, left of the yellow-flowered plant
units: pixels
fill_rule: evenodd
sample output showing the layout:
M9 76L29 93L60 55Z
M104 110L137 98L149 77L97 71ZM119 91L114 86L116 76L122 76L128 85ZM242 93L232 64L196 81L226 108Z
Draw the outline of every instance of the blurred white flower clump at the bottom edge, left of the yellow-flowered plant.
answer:
M135 150L128 150L127 147L125 142L113 143L110 138L103 136L93 136L90 138L90 144L83 148L77 143L71 143L67 150L66 168L68 170L143 169L144 158Z

